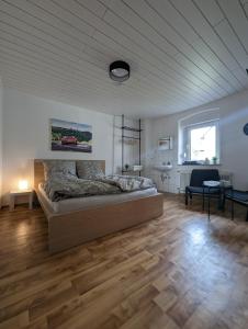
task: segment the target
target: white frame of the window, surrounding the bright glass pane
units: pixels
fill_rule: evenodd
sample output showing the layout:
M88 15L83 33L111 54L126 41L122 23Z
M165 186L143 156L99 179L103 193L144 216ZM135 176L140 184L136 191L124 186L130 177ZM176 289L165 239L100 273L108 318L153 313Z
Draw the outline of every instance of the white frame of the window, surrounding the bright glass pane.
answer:
M216 149L216 158L217 158L217 164L221 162L221 149L219 149L219 118L205 121L201 123L193 123L190 125L187 125L183 129L183 154L185 154L185 160L187 161L195 161L191 159L191 131L198 129L198 128L204 128L215 126L216 128L216 138L215 138L215 149ZM205 159L198 160L199 162L204 161ZM212 160L212 159L210 159Z

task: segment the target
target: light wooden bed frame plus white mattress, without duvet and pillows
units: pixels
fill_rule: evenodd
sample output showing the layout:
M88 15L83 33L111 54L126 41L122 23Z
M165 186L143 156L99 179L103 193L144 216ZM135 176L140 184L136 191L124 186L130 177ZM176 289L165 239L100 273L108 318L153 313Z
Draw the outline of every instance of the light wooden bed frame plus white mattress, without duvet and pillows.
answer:
M80 160L83 161L83 160ZM105 172L105 161L98 161ZM58 252L162 214L164 197L151 188L119 195L52 202L42 188L43 159L34 160L34 189L48 220L48 248Z

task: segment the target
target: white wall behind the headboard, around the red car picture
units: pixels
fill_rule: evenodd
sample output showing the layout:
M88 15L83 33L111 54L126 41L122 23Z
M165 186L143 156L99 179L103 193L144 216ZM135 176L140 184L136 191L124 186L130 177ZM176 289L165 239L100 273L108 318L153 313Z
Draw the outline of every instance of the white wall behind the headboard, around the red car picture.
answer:
M52 151L49 118L92 125L92 154ZM103 159L113 166L113 116L57 103L15 90L3 90L3 194L21 178L33 183L33 159Z

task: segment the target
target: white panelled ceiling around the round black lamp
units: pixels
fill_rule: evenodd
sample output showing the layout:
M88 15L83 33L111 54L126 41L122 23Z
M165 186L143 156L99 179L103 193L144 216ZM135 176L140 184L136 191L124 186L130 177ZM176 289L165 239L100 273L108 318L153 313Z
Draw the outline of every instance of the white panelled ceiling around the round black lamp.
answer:
M0 0L3 86L46 99L158 116L248 88L246 68L248 0Z

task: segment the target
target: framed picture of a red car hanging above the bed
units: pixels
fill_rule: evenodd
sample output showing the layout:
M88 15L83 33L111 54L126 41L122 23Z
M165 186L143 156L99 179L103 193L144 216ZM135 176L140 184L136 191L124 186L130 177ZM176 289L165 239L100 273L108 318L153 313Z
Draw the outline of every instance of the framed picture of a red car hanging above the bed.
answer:
M52 150L92 152L92 126L50 120Z

